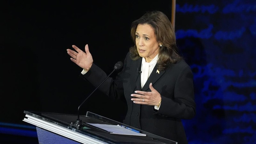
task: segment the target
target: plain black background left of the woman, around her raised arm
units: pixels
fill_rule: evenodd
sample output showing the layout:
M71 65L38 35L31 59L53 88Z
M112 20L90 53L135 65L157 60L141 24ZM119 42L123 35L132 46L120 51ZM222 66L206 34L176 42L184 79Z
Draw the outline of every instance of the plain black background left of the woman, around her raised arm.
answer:
M19 118L23 110L77 113L77 107L94 87L79 77L82 69L69 59L66 49L74 44L84 50L88 44L94 63L110 73L132 46L133 20L156 7L165 9L170 17L171 2L152 4L151 8L145 5L143 9L142 5L99 1L3 4L2 92L9 95L4 99L20 110L10 109L5 114L17 113ZM116 109L119 103L111 103L99 92L83 107L81 110L103 114L120 111ZM17 122L16 118L12 122Z

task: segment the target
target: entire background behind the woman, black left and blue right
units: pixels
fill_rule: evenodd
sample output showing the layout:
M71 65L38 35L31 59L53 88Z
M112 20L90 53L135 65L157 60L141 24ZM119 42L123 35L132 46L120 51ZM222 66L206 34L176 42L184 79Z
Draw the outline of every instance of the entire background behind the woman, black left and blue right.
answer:
M190 144L256 142L255 7L253 0L176 2L177 44L194 73L197 113L183 120ZM77 114L94 90L66 49L88 44L108 74L133 45L131 22L151 10L171 20L171 8L171 0L1 1L2 143L37 142L24 110ZM80 111L121 122L126 107L96 91Z

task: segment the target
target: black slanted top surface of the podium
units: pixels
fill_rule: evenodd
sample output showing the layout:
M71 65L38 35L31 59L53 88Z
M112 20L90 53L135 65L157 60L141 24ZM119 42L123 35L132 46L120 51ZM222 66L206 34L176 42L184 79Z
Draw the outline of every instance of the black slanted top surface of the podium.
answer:
M147 136L135 136L135 135L121 135L121 134L111 134L105 130L88 125L86 123L95 124L109 124L109 125L125 125L117 121L102 117L100 115L87 112L86 116L80 116L79 119L82 120L83 126L79 129L70 127L71 122L76 122L77 115L71 114L60 114L60 113L48 113L48 112L32 112L24 111L28 116L36 117L43 120L51 125L60 126L68 131L76 132L82 134L86 137L91 137L92 139L102 141L103 143L113 143L113 144L128 144L128 143L141 143L141 144L177 144L177 142L165 139L163 137L139 130L140 133L146 134ZM24 118L25 119L25 118ZM128 125L125 125L128 126ZM136 129L136 128L134 128ZM46 129L47 130L47 129Z

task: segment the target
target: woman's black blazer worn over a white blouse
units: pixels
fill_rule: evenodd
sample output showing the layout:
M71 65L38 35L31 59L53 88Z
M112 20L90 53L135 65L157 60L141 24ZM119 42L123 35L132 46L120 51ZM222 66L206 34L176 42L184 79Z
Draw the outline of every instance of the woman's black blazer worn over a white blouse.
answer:
M181 60L158 73L156 64L146 84L141 88L138 72L141 59L132 60L128 52L122 71L116 78L108 78L99 87L100 91L113 99L125 97L127 114L124 124L177 141L179 144L188 143L181 119L191 119L196 114L193 74L190 67ZM107 74L92 64L84 77L97 87ZM154 106L135 104L131 101L134 91L150 91L151 82L162 97L159 110L154 109Z

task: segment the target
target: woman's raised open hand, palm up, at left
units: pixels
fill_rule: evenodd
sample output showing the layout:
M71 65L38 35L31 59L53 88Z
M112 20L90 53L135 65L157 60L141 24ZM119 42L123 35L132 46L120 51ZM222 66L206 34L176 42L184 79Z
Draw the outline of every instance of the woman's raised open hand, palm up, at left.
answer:
M89 51L88 44L85 45L85 52L76 47L75 45L72 45L72 47L76 50L67 49L68 55L71 57L70 60L74 63L76 63L78 66L80 66L83 69L88 69L92 66L93 59L92 55Z

